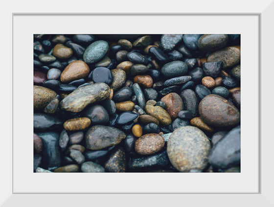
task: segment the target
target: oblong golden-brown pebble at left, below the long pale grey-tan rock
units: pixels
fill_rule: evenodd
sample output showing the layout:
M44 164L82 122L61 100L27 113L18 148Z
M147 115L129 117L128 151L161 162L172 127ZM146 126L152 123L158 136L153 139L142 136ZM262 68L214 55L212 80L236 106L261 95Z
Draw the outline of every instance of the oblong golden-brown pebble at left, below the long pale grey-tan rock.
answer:
M64 123L66 130L81 130L86 129L91 125L91 120L87 117L69 119Z

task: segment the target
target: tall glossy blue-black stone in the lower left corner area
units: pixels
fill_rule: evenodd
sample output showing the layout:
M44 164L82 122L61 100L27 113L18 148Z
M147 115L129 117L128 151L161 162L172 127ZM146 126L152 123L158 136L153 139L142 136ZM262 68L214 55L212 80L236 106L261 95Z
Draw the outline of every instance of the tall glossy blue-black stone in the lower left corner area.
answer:
M59 167L61 165L61 156L59 151L59 134L55 132L42 132L37 135L43 141L42 167Z

